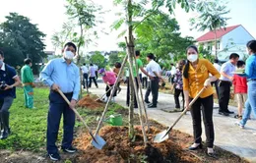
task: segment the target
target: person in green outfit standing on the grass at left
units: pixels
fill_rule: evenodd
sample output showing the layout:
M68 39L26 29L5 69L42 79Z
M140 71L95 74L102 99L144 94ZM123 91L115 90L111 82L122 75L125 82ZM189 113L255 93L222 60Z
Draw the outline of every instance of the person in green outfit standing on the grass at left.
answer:
M26 108L33 108L33 75L32 75L32 60L27 58L24 60L24 67L21 70L22 82L24 87L24 99Z

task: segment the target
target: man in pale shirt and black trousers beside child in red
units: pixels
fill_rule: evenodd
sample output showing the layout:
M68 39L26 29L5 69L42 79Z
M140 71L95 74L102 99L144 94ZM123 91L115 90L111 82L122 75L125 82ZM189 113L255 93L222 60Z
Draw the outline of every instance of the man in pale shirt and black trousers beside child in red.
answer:
M228 116L229 114L233 114L228 110L228 102L230 97L230 86L233 81L233 72L235 71L235 66L237 61L239 60L239 55L236 53L232 53L229 56L229 61L225 62L221 68L221 78L220 78L220 100L219 100L219 114Z

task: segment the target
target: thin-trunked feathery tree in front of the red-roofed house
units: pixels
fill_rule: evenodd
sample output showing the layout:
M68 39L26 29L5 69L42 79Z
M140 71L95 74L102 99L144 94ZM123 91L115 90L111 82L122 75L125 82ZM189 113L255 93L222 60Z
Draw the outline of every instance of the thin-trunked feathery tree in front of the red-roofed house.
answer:
M196 6L199 17L190 20L193 28L199 31L209 29L215 33L215 57L218 58L217 29L224 28L229 18L224 17L229 10L219 0L202 1Z

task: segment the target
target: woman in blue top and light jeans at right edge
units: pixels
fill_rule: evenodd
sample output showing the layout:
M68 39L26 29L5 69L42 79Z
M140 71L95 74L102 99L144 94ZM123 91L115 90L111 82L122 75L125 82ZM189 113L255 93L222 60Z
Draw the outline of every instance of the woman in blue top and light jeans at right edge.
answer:
M248 54L250 55L245 64L245 77L248 81L248 98L245 102L242 120L236 123L236 125L242 129L244 129L244 126L250 118L251 112L253 112L254 117L256 117L256 40L250 40L246 46Z

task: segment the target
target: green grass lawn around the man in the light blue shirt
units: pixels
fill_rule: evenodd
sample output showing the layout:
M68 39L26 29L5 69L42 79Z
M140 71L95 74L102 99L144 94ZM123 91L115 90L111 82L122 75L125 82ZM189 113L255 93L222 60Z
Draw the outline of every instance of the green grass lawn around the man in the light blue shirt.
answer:
M0 149L9 150L29 150L40 152L45 150L46 144L46 127L48 112L48 88L34 88L34 107L36 109L26 109L24 105L23 89L17 88L17 98L10 109L10 127L12 135L7 139L0 140ZM111 104L107 116L117 113L123 109L117 104ZM90 127L96 129L96 118L101 116L102 108L89 110L78 108L79 113L85 118ZM120 110L119 110L120 111ZM82 123L76 121L75 131L82 129ZM86 129L83 129L86 131ZM58 141L62 139L62 121L60 125Z

